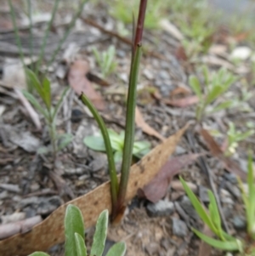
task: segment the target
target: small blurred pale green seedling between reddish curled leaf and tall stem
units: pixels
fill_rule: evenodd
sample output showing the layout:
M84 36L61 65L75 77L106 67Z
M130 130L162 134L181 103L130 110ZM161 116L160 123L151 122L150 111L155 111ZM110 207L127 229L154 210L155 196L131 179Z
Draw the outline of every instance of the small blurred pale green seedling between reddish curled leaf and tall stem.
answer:
M100 67L103 77L108 77L116 69L116 49L111 45L106 51L99 53L97 48L93 48L93 53L97 64Z

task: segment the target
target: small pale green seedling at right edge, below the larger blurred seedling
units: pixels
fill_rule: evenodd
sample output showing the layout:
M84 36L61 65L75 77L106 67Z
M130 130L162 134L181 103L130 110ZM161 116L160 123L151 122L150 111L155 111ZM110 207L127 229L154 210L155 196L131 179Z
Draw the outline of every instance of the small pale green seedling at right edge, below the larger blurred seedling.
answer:
M241 131L237 131L235 129L235 123L229 122L229 130L228 130L228 147L225 151L226 156L231 156L235 153L235 149L238 146L238 142L247 139L248 137L254 134L254 128L246 130L246 132L242 133Z

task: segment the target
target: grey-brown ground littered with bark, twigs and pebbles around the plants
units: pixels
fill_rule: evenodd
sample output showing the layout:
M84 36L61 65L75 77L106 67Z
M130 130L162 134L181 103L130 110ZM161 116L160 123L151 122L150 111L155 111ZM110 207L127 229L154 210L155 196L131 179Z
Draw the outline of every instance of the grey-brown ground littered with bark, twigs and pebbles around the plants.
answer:
M37 154L40 146L49 145L48 131L42 117L40 117L42 129L38 130L31 121L26 106L20 103L17 90L25 88L26 82L10 62L19 60L19 50L15 47L8 5L4 1L0 3L6 6L6 9L3 8L3 13L6 10L3 14L4 22L0 25L2 74L0 87L0 217L4 224L14 221L10 217L14 216L14 213L24 213L25 218L37 215L42 216L42 219L46 218L64 202L82 196L104 183L108 180L108 175L105 154L92 151L83 143L86 136L99 134L99 128L88 109L84 109L77 99L77 94L72 90L67 94L57 118L58 133L72 134L71 144L59 152L55 167L52 164L52 154L43 156ZM19 4L18 2L14 6L19 17L18 26L22 27L25 18L22 12L19 13ZM48 20L47 14L52 4L50 1L43 6L38 3L35 8L43 14L42 24L37 23L33 31L36 35L34 54L37 54L38 45L42 43L42 31L45 31L45 20ZM108 8L109 5L106 3L86 6L82 13L82 17L86 20L77 20L71 36L67 38L63 49L50 67L48 76L52 82L55 104L60 92L71 83L68 75L71 63L78 63L76 67L78 70L82 69L79 61L86 60L90 65L90 76L87 77L89 79L94 76L102 77L92 48L96 47L99 51L103 51L110 45L114 45L116 70L99 82L97 79L93 82L93 87L102 96L100 104L104 101L105 107L102 108L101 113L106 124L116 132L121 132L125 124L125 97L131 54L128 43L93 26L94 22L108 31L116 31L116 20L108 14ZM66 23L70 21L71 10L66 6L61 7L47 43L44 54L46 60L53 54L60 35L65 31ZM89 20L93 22L89 23ZM130 30L130 26L127 26L127 29ZM182 33L181 30L180 33ZM237 100L239 105L227 111L207 115L202 122L203 128L212 132L218 131L220 136L215 138L223 149L226 145L229 122L234 122L235 128L242 132L248 128L254 129L255 87L252 73L254 54L252 46L246 43L246 38L240 39L238 36L241 37L241 33L234 37L231 31L220 26L213 37L208 53L198 53L190 60L185 56L181 47L182 41L178 40L176 33L169 32L169 29L167 31L167 28L158 31L146 30L144 31L145 50L141 60L138 86L139 110L145 122L155 128L161 136L167 138L184 127L185 123L193 122L189 132L177 146L173 158L185 156L194 150L207 152L207 156L203 156L207 162L207 168L201 168L199 163L202 160L192 162L189 166L182 167L183 176L184 179L190 181L201 201L205 203L208 202L207 188L211 188L208 177L211 177L217 187L216 192L222 204L224 218L227 219L225 224L228 225L231 234L241 234L240 230L245 229L241 192L236 185L235 175L231 173L233 168L231 166L226 168L224 161L215 155L212 156L213 152L210 151L208 141L202 138L199 128L194 124L197 100L193 103L191 100L189 103L190 98L194 96L190 89L189 77L191 74L198 74L201 77L199 70L201 64L207 65L210 72L224 67L237 77L236 82L223 99L237 98L240 101ZM31 45L27 29L22 31L21 45L24 52L29 53ZM231 59L231 53L240 46L245 46L251 53L246 58L242 53L240 57L242 60L235 61ZM105 82L108 83L107 86L100 86ZM76 90L75 86L72 85L72 88ZM246 94L249 94L247 97L249 99L240 100L244 98L242 97L244 90ZM221 98L218 99L219 102L221 100ZM249 126L246 126L247 122ZM152 147L160 143L159 139L143 133L140 128L136 129L136 136L138 140L149 140ZM255 151L254 134L243 139L238 144L235 153L228 158L235 161L235 164L243 171L246 170L247 149ZM188 198L184 196L178 178L173 179L160 205L161 208L155 209L155 204L145 199L135 198L127 208L122 224L110 227L108 242L121 240L127 242L127 255L198 255L201 242L195 238L189 227L195 225L202 230L201 221L191 207ZM167 207L167 212L161 213L162 208ZM161 216L149 217L148 212L151 211L152 214ZM24 214L21 214L21 218L24 218ZM93 232L93 228L88 230L88 244L91 242ZM49 253L62 255L62 249L62 245L56 245ZM208 250L207 254L209 255ZM212 251L211 254L222 255L218 251Z

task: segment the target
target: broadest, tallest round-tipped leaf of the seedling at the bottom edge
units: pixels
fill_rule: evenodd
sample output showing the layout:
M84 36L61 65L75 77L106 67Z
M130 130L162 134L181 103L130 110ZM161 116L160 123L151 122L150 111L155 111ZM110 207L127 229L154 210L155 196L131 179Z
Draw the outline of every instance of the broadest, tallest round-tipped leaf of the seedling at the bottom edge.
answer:
M65 211L65 256L77 255L75 233L84 239L82 212L69 204Z

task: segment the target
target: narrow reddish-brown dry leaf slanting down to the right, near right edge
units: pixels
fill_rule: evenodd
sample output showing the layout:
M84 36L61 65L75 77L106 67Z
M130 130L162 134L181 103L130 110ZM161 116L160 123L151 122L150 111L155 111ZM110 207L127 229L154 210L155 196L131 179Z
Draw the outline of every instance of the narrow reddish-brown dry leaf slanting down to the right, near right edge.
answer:
M213 156L218 157L221 161L224 162L224 168L229 171L229 173L233 173L239 176L241 179L246 179L246 173L243 172L238 164L233 162L229 157L224 156L223 151L220 146L216 143L216 141L212 138L211 134L207 132L206 129L201 129L200 131L202 137L206 140L209 151L211 151Z

